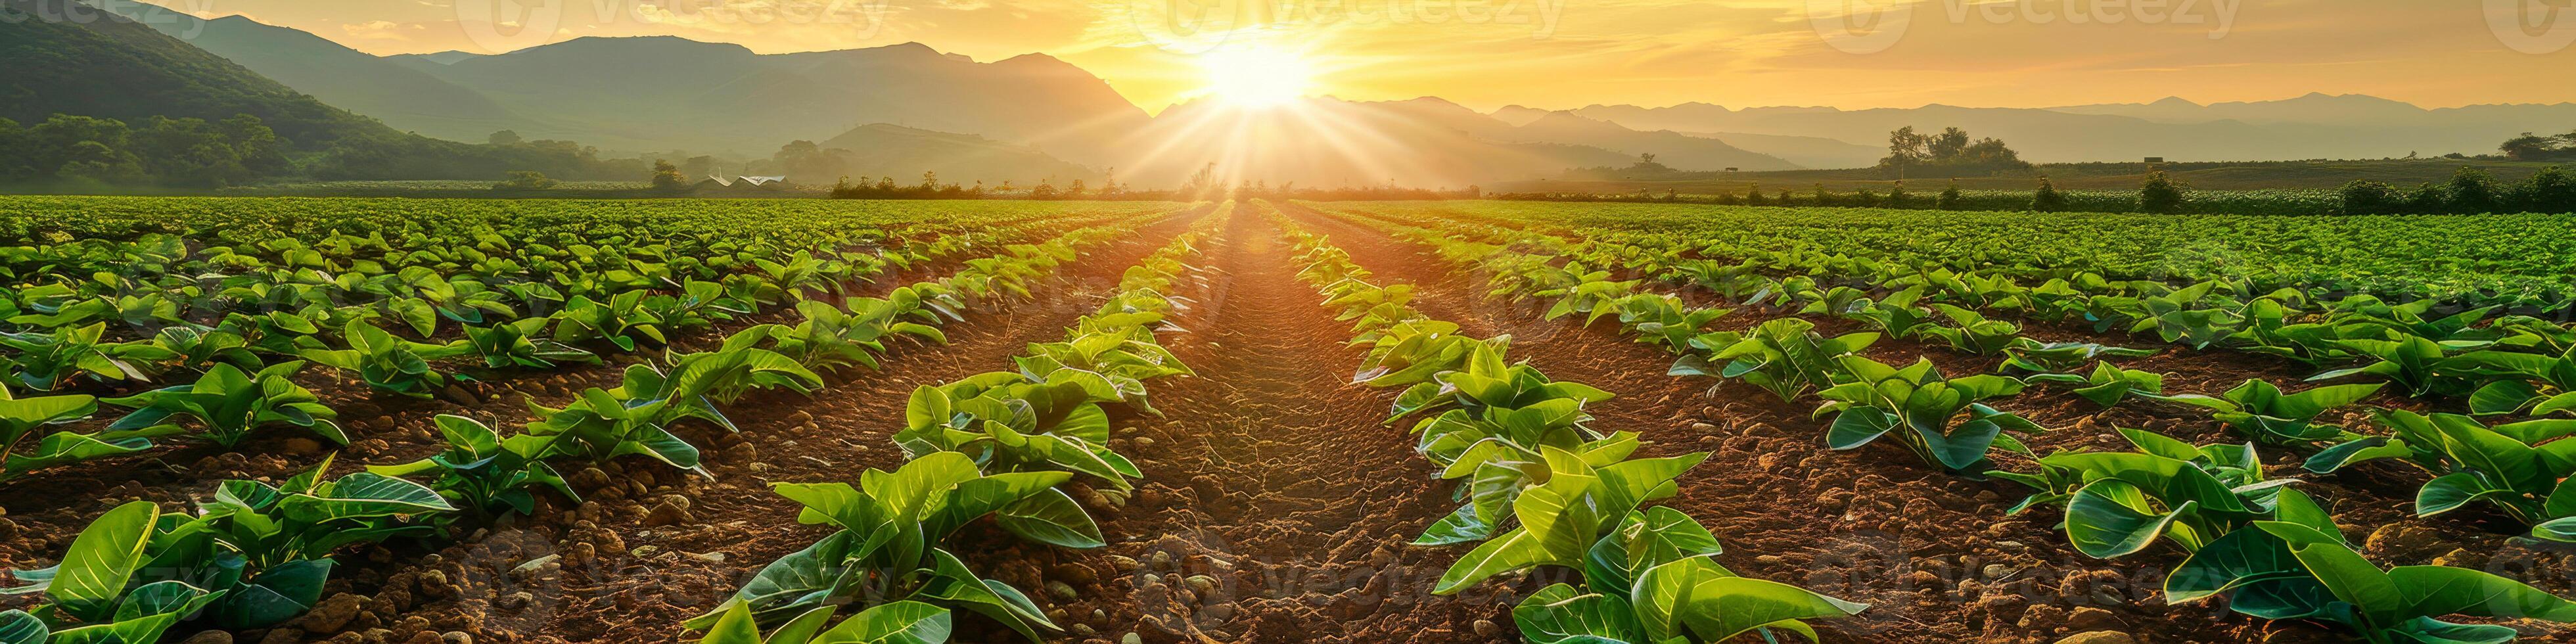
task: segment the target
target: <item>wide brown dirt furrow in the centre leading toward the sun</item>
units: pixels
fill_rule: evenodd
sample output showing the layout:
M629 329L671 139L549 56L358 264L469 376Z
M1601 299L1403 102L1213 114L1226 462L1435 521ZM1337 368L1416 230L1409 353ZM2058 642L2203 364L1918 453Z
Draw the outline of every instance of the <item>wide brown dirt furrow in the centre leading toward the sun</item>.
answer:
M1378 425L1391 392L1350 384L1360 353L1293 252L1260 216L1211 240L1167 337L1198 379L1157 381L1167 417L1128 435L1146 482L1103 523L1128 541L1074 562L1084 595L1144 641L1492 641L1476 621L1510 603L1430 595L1455 554L1404 546L1448 492Z

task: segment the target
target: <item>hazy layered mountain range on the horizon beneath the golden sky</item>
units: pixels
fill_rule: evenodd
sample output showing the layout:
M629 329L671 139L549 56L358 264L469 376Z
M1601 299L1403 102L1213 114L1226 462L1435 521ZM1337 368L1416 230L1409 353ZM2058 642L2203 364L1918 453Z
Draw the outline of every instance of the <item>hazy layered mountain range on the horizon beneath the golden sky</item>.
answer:
M0 116L144 116L191 106L191 93L263 93L276 103L268 111L327 116L345 108L453 142L510 129L526 139L734 160L765 160L788 142L822 142L850 149L868 173L912 175L917 170L891 165L920 165L951 180L1028 183L1036 175L1023 173L1048 173L1066 180L1115 175L1133 185L1172 185L1208 162L1229 180L1303 185L1468 185L1631 165L1638 155L1656 155L1677 170L1860 167L1883 155L1886 134L1899 126L1960 126L1999 137L2032 162L2486 152L2519 131L2576 126L2571 103L2416 108L2367 95L1865 111L1504 106L1489 113L1440 98L1303 98L1291 111L1193 100L1146 113L1105 80L1046 54L976 62L925 44L755 54L737 44L634 36L569 39L507 54L376 57L242 15L201 21L137 3L118 8L167 36L188 36L185 44L229 64L180 62L162 52L167 39L131 39L131 23L39 26L95 28L80 39L90 44L85 49L121 44L126 52L93 59L31 46L13 57L18 75L46 75L46 82L82 90L33 95L26 88L44 82L21 82L15 95L0 95L13 98ZM0 26L0 46L18 28ZM52 67L31 72L21 62ZM366 118L337 121L345 121L343 129L374 126Z

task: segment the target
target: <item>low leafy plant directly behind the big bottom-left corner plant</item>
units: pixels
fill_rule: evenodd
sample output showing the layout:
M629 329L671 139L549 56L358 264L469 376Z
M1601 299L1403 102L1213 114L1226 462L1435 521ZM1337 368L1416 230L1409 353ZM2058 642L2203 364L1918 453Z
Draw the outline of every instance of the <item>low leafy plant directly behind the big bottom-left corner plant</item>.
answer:
M322 404L314 392L291 376L304 371L301 361L273 363L258 374L242 374L229 363L214 366L193 384L152 389L134 397L106 399L129 407L106 435L173 435L185 433L180 417L196 420L196 430L224 448L237 448L250 433L263 428L304 428L332 443L348 443L337 412Z

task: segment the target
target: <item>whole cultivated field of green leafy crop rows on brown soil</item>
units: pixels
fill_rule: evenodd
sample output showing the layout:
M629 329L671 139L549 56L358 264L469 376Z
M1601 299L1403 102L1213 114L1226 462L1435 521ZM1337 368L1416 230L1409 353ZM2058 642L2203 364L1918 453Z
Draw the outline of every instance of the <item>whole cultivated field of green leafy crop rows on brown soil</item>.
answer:
M2576 639L2576 216L0 198L0 644Z

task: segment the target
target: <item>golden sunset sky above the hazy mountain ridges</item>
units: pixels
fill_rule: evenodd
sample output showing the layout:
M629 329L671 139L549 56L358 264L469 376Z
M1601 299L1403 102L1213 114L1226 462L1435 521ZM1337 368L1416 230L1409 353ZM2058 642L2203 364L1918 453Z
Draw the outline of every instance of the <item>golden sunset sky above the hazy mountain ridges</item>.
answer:
M2367 93L2427 108L2576 100L2576 49L2561 44L2576 39L2568 0L155 3L196 15L240 13L371 54L649 33L734 41L762 54L902 41L987 62L1043 52L1105 77L1146 111L1198 93L1206 77L1195 54L1226 46L1303 54L1316 93L1440 95L1471 108L1685 100L2025 108L2303 93ZM2514 3L2535 13L2514 13ZM1844 28L1868 15L1878 15L1875 28ZM2537 26L2491 21L2517 15Z

